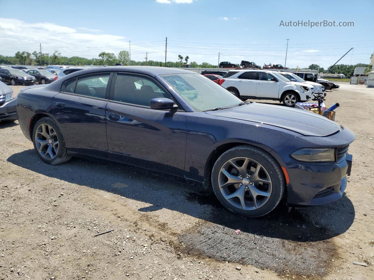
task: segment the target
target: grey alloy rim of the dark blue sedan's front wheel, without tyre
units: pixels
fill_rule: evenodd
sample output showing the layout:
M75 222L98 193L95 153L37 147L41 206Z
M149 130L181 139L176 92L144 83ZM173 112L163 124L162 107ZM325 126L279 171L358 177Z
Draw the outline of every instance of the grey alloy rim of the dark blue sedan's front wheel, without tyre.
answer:
M222 165L218 184L223 197L242 210L261 208L272 194L269 172L258 161L244 156Z

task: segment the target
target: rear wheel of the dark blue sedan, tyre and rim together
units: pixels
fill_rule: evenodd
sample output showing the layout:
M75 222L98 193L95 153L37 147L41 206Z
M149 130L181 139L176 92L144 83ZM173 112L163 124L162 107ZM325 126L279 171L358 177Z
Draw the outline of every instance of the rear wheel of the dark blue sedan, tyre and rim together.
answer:
M60 164L71 158L67 154L64 138L52 118L37 121L33 130L33 143L39 158L47 164Z

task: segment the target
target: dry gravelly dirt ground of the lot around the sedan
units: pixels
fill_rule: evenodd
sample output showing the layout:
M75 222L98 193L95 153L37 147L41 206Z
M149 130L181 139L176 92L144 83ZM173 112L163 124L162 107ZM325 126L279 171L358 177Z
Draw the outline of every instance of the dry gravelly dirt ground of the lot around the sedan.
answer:
M1 123L0 280L373 280L374 89L340 84L326 103L339 102L335 121L356 133L346 194L257 219L142 169L47 165L18 122Z

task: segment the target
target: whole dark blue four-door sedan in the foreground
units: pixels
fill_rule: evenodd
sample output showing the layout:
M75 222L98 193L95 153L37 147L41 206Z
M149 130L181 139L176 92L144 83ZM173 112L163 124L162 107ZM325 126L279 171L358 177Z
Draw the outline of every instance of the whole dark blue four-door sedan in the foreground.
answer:
M91 68L18 95L20 127L48 164L91 156L213 188L237 214L339 199L355 139L303 110L245 103L203 75L152 67Z

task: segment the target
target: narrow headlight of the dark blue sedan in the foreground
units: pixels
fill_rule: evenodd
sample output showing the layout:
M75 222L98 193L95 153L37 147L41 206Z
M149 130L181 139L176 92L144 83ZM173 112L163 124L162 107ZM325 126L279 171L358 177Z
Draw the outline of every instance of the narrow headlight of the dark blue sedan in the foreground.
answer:
M335 161L335 149L300 149L291 153L291 157L306 162Z

